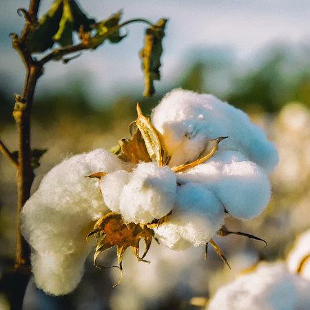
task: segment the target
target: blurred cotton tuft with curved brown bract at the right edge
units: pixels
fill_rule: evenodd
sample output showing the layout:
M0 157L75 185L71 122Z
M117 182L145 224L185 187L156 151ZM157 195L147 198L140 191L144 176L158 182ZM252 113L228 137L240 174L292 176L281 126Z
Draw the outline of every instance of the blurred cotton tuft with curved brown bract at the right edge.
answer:
M296 273L300 269L300 275L310 280L310 229L296 240L293 249L287 256L287 267L292 273Z

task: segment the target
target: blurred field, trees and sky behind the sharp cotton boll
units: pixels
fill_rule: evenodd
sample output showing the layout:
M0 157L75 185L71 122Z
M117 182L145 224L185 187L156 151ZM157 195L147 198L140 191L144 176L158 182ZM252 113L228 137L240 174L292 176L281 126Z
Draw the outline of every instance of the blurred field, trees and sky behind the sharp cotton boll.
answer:
M41 14L52 1L41 1ZM105 43L67 65L49 63L39 79L32 113L32 145L46 148L32 187L70 154L110 148L128 137L139 101L149 114L165 92L183 87L215 94L245 110L274 141L280 164L271 176L273 197L258 218L227 220L231 230L264 238L268 246L241 236L217 238L231 265L203 248L183 252L152 245L151 264L136 262L128 251L123 282L112 289L117 271L92 267L78 289L63 298L28 287L25 309L203 309L216 289L258 260L287 256L296 236L310 227L310 3L308 0L80 0L90 17L105 19L123 9L123 19L167 17L162 79L152 99L142 97L138 51L142 24L130 25L118 45ZM13 94L21 92L23 65L10 46L20 32L17 8L26 0L0 3L0 136L16 149ZM0 275L14 259L15 172L0 156ZM112 264L115 253L105 257ZM114 273L115 272L115 273ZM2 305L2 306L1 306ZM5 300L0 296L0 309Z

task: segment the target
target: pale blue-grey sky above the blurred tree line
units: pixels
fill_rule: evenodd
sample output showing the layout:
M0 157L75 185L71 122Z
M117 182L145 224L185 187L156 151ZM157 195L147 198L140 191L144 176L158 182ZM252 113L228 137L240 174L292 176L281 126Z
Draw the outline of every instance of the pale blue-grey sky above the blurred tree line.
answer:
M26 0L0 1L0 66L8 87L22 83L23 67L10 48L9 32L19 32L23 19L16 14L27 7ZM52 1L41 1L44 12ZM123 19L145 17L156 21L167 17L167 37L164 41L162 81L165 87L187 68L191 51L203 54L208 48L227 48L234 53L240 66L254 58L267 45L289 43L298 45L310 41L309 0L80 0L82 8L96 19L104 19L123 10ZM95 96L111 96L120 89L143 89L138 51L143 44L143 24L126 28L128 37L119 45L105 43L93 52L69 63L48 64L40 81L40 92L66 87L72 76L87 76L89 90ZM17 89L16 92L19 90Z

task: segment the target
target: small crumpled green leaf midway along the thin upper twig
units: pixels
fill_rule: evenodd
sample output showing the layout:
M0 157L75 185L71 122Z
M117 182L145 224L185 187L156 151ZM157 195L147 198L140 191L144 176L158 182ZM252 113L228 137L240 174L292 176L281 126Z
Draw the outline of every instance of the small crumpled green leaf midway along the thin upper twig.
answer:
M122 12L119 11L115 14L112 14L108 19L96 23L94 28L96 29L96 34L90 39L89 47L98 48L105 40L109 40L111 43L118 43L126 36L121 36L120 34L120 24Z

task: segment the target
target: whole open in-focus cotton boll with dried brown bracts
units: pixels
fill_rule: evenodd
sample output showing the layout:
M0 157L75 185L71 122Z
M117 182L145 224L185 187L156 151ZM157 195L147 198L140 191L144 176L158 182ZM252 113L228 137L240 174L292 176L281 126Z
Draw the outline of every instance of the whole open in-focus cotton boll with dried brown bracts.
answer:
M93 239L94 265L105 268L98 258L115 246L118 265L112 267L121 271L128 247L148 262L152 240L177 250L205 245L206 254L211 244L225 262L214 236L261 240L228 231L224 220L255 218L269 203L278 153L265 133L228 103L180 89L167 94L151 118L139 105L137 114L132 138L112 152L65 159L25 204L23 236L32 247L34 280L45 292L75 289Z

